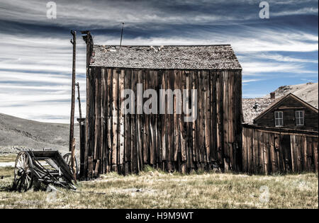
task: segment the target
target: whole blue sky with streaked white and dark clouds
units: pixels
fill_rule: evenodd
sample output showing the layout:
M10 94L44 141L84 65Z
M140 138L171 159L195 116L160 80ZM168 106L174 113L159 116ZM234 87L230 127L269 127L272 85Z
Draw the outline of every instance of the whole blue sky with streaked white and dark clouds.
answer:
M242 64L242 96L318 81L318 1L48 1L1 0L0 113L69 122L72 45L69 33L91 30L94 43L200 45L230 43ZM77 81L85 100L85 50L77 36ZM77 110L76 110L77 116Z

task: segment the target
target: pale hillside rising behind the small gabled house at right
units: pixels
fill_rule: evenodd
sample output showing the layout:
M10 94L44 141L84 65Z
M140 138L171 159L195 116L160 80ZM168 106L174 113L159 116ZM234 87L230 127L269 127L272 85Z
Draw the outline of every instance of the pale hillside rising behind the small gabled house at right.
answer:
M295 96L303 99L303 101L318 108L318 83L309 82L307 84L280 86L274 92L276 93L276 98L293 93ZM269 94L265 98L269 98Z

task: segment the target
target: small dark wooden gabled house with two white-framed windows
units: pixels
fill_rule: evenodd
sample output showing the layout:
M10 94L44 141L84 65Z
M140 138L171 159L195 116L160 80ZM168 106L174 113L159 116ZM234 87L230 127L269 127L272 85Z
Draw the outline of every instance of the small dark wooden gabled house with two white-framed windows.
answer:
M289 93L254 118L254 124L318 132L318 109Z

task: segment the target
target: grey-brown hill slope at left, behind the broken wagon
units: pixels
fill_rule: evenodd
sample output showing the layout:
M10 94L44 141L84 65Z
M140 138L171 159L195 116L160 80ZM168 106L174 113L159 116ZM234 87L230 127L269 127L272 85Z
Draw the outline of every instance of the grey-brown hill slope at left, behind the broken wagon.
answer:
M78 144L78 125L74 126L74 137ZM69 125L36 122L0 113L0 152L23 147L66 152L69 149Z

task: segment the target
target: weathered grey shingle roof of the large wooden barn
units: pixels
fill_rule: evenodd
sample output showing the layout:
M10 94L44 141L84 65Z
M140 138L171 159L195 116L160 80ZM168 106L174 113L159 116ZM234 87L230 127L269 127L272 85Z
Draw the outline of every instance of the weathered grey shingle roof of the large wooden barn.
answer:
M94 45L90 66L144 69L242 69L230 45Z

